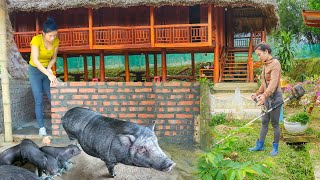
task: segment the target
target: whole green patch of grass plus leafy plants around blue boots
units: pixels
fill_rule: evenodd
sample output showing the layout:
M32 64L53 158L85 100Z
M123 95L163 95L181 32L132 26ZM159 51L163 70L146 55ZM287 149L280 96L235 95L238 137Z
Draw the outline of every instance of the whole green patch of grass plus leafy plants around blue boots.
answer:
M226 121L222 125L215 126L214 131L218 131L215 135L220 134L219 137L215 137L215 140L218 141L228 135L230 130L237 129L246 123L247 121L244 120L231 120ZM240 171L244 173L246 170L254 167L254 171L250 172L255 173L246 174L245 179L314 179L308 146L299 146L296 148L296 146L287 145L280 141L279 154L271 158L269 151L272 149L273 134L269 132L264 151L248 151L248 148L254 146L256 139L259 137L260 123L261 122L253 123L249 128L245 128L232 136L231 140L226 140L224 144L214 146L210 151L201 154L197 161L197 175L200 176L201 179L218 179L220 177L222 177L222 179L241 179L239 175L234 174ZM269 128L270 130L272 129L271 125ZM264 168L259 164L263 165ZM257 170L257 168L261 169ZM220 172L219 175L217 172Z

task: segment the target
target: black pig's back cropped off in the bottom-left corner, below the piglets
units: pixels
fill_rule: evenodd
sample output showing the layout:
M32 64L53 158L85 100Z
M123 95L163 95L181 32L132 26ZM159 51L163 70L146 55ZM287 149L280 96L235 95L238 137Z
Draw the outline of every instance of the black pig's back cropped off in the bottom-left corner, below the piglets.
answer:
M0 180L41 180L36 174L12 165L0 166Z

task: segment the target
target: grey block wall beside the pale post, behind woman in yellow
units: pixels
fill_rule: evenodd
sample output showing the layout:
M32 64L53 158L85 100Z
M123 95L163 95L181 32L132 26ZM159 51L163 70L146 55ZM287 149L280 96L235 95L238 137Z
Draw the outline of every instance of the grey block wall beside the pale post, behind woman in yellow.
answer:
M0 133L3 133L2 86L0 86L0 93ZM13 128L18 128L23 123L35 119L34 100L29 81L10 79L10 98Z

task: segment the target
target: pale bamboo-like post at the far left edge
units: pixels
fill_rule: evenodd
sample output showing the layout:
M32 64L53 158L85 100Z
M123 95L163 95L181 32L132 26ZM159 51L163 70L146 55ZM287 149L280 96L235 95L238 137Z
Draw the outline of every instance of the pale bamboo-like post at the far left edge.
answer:
M4 141L12 142L12 117L10 99L10 81L8 74L8 49L7 49L7 1L0 1L0 66L1 66L1 87L4 119Z

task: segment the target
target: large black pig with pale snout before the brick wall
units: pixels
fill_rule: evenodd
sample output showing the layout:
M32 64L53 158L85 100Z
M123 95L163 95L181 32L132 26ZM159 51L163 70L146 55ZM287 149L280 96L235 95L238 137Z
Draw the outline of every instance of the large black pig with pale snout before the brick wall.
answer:
M112 177L117 163L166 172L175 165L159 147L154 125L144 127L82 107L67 111L62 125L69 138L77 139L87 154L106 163Z

